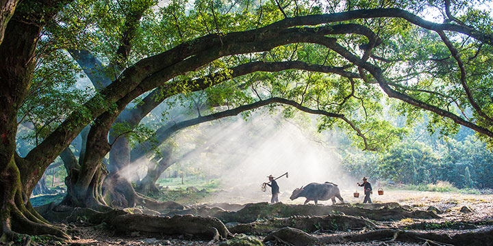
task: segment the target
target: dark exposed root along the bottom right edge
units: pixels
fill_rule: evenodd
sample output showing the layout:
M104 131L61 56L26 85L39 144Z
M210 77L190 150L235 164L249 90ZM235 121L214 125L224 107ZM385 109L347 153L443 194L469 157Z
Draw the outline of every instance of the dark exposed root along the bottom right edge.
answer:
M283 241L290 245L313 245L324 243L349 243L364 241L400 241L428 243L429 245L493 245L493 229L475 230L449 236L432 232L383 229L365 233L312 236L302 230L282 228L264 238L264 241Z

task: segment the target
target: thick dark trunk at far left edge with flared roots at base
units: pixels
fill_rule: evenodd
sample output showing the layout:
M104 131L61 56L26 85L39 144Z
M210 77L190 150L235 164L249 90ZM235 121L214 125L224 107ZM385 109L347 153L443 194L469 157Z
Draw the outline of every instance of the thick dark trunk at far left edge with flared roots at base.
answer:
M38 169L37 163L21 159L15 152L17 111L27 96L34 71L34 59L39 33L45 23L58 12L64 3L56 8L49 2L23 1L24 10L38 16L15 12L17 1L0 3L0 226L2 240L16 235L51 234L62 238L68 236L42 219L32 208L29 195L43 175L45 169ZM52 3L51 3L52 4ZM31 8L31 5L34 6ZM5 8L7 7L7 8ZM11 12L9 12L10 10ZM33 9L34 8L34 9ZM40 8L40 9L38 9ZM43 12L41 10L49 10ZM7 12L5 12L7 11ZM5 13L7 13L5 15ZM29 20L25 20L29 16ZM5 24L8 22L8 25ZM3 29L8 35L3 36Z

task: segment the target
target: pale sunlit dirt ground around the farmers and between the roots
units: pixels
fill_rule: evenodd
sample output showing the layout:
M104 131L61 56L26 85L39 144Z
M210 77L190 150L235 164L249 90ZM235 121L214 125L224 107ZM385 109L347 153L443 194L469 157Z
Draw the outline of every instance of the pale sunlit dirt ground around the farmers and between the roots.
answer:
M184 193L184 191L180 191ZM202 192L204 191L197 191ZM188 192L193 193L193 192ZM284 204L302 204L304 198L290 201L288 199L290 194L281 193L280 200ZM342 191L342 197L345 198L344 202L352 204L354 207L369 208L368 205L360 204L362 202L362 196L358 198L353 197L353 191ZM268 193L259 193L257 199L253 197L242 197L236 193L228 192L215 192L207 193L207 195L190 195L192 197L189 200L188 206L198 208L203 204L212 204L217 202L227 202L233 204L247 204L251 202L266 202L270 200ZM441 218L435 219L419 219L419 218L403 218L395 220L375 221L375 224L379 226L385 226L385 228L399 228L402 230L412 230L412 232L434 232L438 234L448 234L453 236L457 233L473 232L477 230L491 230L493 229L493 195L476 195L476 194L464 194L464 193L451 193L451 192L429 192L429 191L385 191L384 195L377 195L377 191L372 195L374 204L385 204L390 202L397 202L401 207L407 210L429 210L433 207L438 209L438 215ZM233 201L233 202L232 202ZM184 200L182 200L184 202ZM319 206L329 206L330 201L320 202ZM469 211L465 211L464 207L467 207ZM433 208L433 209L434 209ZM258 221L258 220L257 220ZM260 220L264 221L264 220ZM71 228L71 236L74 240L70 243L62 243L63 245L220 245L224 243L208 242L204 239L195 238L192 236L163 236L163 235L145 235L140 232L128 232L124 234L115 234L112 228L103 225L89 225L81 221L82 223L59 225L65 228ZM231 226L227 224L227 226ZM306 231L306 230L305 230ZM323 238L334 235L355 234L370 232L372 229L364 228L363 230L338 230L327 231L317 230L310 232L310 235ZM265 233L254 234L260 241L264 240L267 236ZM266 242L264 245L282 245L277 242ZM424 242L424 241L423 241ZM420 243L406 243L400 241L390 240L376 240L366 241L359 243L332 243L321 245L423 245ZM284 243L287 243L284 241ZM493 242L485 242L485 245ZM294 243L295 244L295 243ZM34 238L31 245L54 245L52 241L36 241ZM428 245L433 245L433 241L428 242ZM439 245L439 244L438 244Z

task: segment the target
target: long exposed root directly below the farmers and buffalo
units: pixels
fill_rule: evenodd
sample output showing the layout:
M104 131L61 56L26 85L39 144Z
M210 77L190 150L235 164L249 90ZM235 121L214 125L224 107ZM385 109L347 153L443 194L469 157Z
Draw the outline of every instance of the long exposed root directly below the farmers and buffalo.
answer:
M266 202L256 204L246 204L244 208L237 212L228 212L221 208L193 208L182 211L172 211L165 215L200 215L217 217L224 223L240 222L251 223L257 219L273 217L291 217L294 215L333 215L344 213L373 219L377 221L399 220L404 218L415 219L438 219L440 218L433 211L424 210L406 210L401 206L389 208L384 206L379 209L360 208L349 204L336 206L316 206L316 205L289 205L277 203L270 205Z

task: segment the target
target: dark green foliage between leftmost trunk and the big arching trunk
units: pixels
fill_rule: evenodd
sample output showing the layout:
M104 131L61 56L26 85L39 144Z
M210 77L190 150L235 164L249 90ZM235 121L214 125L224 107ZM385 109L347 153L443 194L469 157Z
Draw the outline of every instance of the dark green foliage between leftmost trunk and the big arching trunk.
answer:
M19 122L31 130L21 135L21 139L38 145L92 96L90 90L77 87L79 76L75 62L62 51L53 51L39 59L29 95L18 110Z

